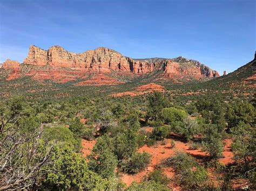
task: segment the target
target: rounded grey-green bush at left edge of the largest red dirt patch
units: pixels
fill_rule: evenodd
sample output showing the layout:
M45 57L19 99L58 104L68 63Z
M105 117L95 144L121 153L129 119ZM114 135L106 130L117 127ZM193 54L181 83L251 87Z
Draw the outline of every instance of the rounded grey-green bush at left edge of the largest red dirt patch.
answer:
M147 165L150 164L151 155L147 152L143 153L134 153L131 158L124 159L120 166L121 169L130 174L138 173L144 170Z

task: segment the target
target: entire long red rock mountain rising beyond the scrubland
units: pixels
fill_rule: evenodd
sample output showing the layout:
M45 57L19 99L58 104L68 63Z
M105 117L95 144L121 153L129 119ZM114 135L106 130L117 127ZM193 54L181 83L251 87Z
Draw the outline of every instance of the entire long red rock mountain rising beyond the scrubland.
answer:
M136 77L137 75L158 72L165 79L173 81L177 78L188 81L191 77L201 79L219 76L218 72L195 60L187 60L182 57L175 59L131 59L104 47L83 53L73 53L60 46L52 46L48 51L45 51L31 45L29 54L22 64L17 61L6 60L2 68L13 68L16 73L32 76L36 80L66 82L85 79L77 83L78 86L96 84L92 82L93 80L107 81L107 84L118 84L120 81L110 77L113 73ZM89 74L94 74L94 77L90 79ZM13 78L11 77L11 79Z

